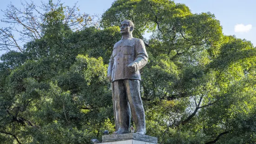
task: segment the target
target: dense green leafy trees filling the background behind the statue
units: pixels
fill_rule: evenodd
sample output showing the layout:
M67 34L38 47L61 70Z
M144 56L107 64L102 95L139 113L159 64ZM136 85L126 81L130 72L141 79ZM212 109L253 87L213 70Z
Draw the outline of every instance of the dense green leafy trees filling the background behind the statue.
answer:
M114 131L106 72L124 19L149 53L141 70L147 135L159 144L256 143L256 48L223 35L214 14L171 0L116 0L99 27L75 30L66 7L47 7L40 38L0 58L2 144L90 144Z

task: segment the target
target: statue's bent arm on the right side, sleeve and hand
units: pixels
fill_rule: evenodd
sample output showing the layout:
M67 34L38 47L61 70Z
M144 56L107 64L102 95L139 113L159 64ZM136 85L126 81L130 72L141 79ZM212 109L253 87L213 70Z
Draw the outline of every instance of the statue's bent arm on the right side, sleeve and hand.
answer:
M135 42L135 59L130 65L135 66L135 71L142 69L148 62L148 54L142 39Z

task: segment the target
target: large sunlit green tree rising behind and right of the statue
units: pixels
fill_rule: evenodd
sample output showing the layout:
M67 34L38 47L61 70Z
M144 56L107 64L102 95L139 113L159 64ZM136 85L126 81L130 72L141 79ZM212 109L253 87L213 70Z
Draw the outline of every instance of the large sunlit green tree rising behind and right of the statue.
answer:
M255 140L252 131L250 137L244 133L243 142L223 138L237 136L230 126L236 118L230 113L241 109L241 101L251 103L247 93L255 87L255 70L249 66L255 59L251 43L224 36L213 14L193 14L171 0L116 0L102 23L108 27L123 19L135 22L137 37L153 33L145 43L150 59L142 70L142 98L152 130L148 133L166 144Z

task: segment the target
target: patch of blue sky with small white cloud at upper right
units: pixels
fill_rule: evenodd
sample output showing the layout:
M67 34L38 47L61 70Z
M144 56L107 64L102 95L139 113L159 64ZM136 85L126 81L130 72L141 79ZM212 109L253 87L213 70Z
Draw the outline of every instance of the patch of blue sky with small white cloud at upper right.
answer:
M174 1L184 3L192 13L214 13L225 35L236 35L236 38L249 40L256 46L256 0Z

